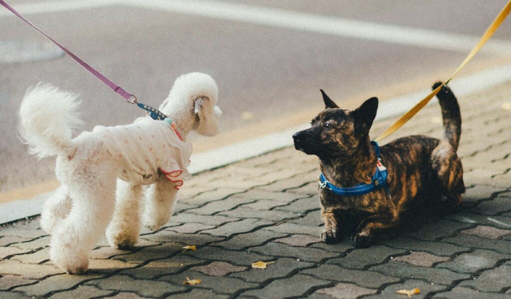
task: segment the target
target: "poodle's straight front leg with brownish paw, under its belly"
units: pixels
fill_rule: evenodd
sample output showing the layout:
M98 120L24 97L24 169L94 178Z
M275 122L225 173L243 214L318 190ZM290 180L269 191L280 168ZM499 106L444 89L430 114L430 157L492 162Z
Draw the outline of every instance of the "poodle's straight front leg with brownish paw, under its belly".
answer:
M130 248L140 234L140 201L142 186L117 180L115 210L106 237L113 248Z

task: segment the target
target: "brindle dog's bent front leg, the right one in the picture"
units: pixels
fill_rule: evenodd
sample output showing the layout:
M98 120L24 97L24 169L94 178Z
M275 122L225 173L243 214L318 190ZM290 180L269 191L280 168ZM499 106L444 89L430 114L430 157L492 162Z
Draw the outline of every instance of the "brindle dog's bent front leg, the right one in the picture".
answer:
M396 226L398 219L398 212L393 207L379 210L377 214L360 222L357 233L352 237L352 245L356 248L370 246L373 243L375 231Z

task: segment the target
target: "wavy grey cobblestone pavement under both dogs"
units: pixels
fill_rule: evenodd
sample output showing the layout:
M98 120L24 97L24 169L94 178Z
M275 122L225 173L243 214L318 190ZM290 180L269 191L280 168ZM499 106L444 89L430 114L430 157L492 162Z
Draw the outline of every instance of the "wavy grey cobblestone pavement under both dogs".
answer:
M453 214L416 212L366 249L323 244L317 159L285 148L195 176L171 222L133 251L103 238L85 275L52 265L37 218L1 228L0 297L406 298L396 290L415 287L413 298L511 297L511 83L460 104L468 189ZM417 133L442 134L437 105L392 137Z

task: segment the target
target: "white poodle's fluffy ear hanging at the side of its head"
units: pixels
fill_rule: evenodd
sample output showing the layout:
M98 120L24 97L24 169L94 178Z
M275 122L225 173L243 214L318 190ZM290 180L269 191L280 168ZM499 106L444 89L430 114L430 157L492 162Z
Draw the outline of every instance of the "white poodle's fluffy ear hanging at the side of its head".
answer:
M195 131L200 135L215 136L218 134L218 121L222 116L222 110L213 106L206 96L195 99L194 113L198 116L199 122Z

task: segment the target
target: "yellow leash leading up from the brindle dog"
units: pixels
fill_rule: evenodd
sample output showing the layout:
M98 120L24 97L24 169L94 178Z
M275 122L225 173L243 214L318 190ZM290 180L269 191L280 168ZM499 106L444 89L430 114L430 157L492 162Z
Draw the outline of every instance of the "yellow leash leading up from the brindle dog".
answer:
M456 76L456 74L472 59L474 58L474 56L477 54L477 52L479 52L479 50L482 48L482 46L492 37L492 35L495 33L495 31L497 31L497 29L499 28L500 24L502 24L502 22L504 21L504 19L507 17L507 15L509 14L509 11L511 11L511 0L509 0L509 2L506 4L506 6L502 9L502 11L497 15L497 17L495 18L495 20L492 22L492 24L490 25L490 27L488 29L486 29L486 32L484 32L483 36L481 37L481 39L479 40L479 42L474 46L474 48L472 49L472 51L469 53L469 55L467 56L467 58L465 58L465 60L463 60L463 62L460 64L460 66L458 67L458 69L456 69L456 71L451 75L451 77L449 77L449 79L447 79L447 81L444 83L444 84L447 84L449 83L449 81L451 81L451 79ZM417 103L415 106L412 107L412 109L410 109L408 112L406 112L405 114L403 114L403 116L401 116L396 122L394 122L394 124L392 124L392 126L390 126L387 130L385 130L385 132L383 132L382 135L380 135L378 138L376 138L375 140L376 141L380 141L382 140L383 138L387 137L388 135L394 133L394 131L398 130L399 128L401 128L401 126L403 126L403 124L405 124L408 120L410 120L410 118L412 118L417 112L419 112L422 108L424 108L424 106L426 106L426 104L428 104L428 102L430 101L431 98L433 98L433 96L435 96L439 91L440 89L442 89L442 85L438 86L435 90L433 90L430 94L428 94L425 98L423 98L421 100L421 102Z

